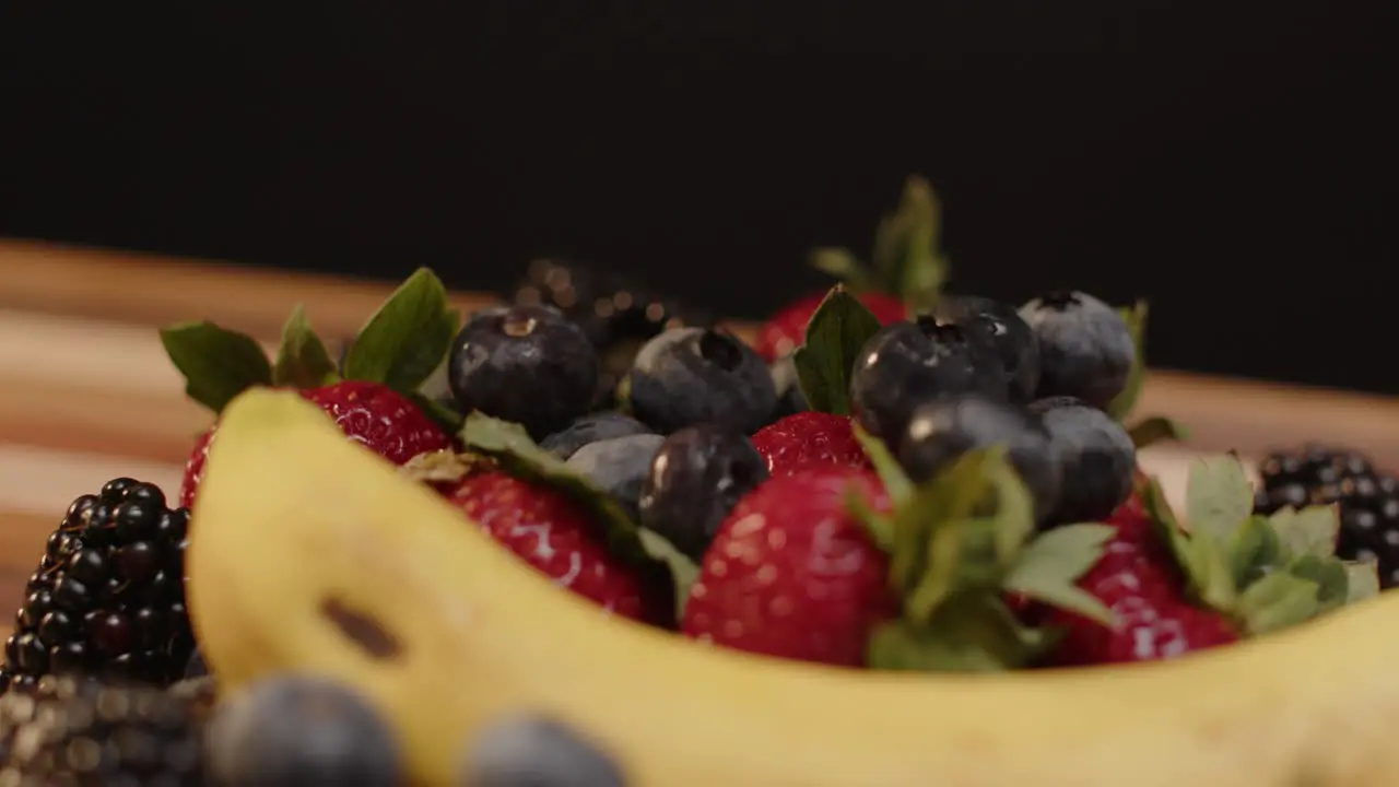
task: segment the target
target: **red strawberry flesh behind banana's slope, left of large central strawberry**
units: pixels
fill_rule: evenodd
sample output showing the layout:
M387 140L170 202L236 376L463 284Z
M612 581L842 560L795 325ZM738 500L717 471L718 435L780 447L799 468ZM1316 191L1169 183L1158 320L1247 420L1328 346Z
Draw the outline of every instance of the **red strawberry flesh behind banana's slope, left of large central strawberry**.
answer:
M604 609L635 620L673 615L670 599L645 592L648 583L607 552L593 520L562 493L487 472L466 476L446 499L555 584Z

